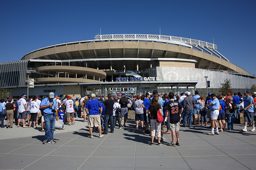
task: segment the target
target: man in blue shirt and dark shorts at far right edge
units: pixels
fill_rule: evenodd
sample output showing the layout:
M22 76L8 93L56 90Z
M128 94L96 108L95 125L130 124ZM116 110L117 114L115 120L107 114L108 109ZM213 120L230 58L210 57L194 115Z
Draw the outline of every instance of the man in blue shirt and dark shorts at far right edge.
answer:
M255 131L253 97L249 95L249 90L243 91L243 95L243 117L245 117L245 128L243 128L242 131L247 131L247 124L249 121L253 124L253 128L251 128L250 131Z

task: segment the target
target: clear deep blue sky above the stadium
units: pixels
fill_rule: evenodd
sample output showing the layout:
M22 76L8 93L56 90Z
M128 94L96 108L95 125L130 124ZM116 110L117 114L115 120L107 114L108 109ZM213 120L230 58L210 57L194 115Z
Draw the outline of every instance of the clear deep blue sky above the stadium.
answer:
M256 74L256 1L0 0L1 62L64 42L112 33L149 33L213 42Z

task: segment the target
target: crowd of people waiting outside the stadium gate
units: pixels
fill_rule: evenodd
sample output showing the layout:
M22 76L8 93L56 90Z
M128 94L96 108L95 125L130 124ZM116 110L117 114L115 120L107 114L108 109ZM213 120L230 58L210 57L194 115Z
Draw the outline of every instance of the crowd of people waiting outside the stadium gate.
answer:
M8 97L0 99L1 128L16 127L36 128L38 125L45 133L43 144L56 143L53 133L56 128L55 121L60 121L58 128L64 130L64 126L75 125L75 117L88 121L89 137L94 138L93 133L98 132L100 138L104 134L114 133L115 127L126 127L126 120L130 109L135 111L136 129L142 129L144 134L151 136L150 145L162 145L166 139L163 134L171 134L172 141L168 146L180 146L179 129L191 127L192 124L208 126L211 131L208 135L218 135L222 131L234 130L233 123L240 122L240 112L245 119L242 132L247 131L247 125L251 125L250 131L255 131L254 118L256 110L256 92L253 96L249 91L243 91L243 95L234 92L226 96L209 92L206 99L200 96L198 91L192 96L191 92L182 92L180 96L173 92L159 95L157 90L152 94L127 96L126 94L114 96L71 96L59 95L50 92L48 96L39 98L33 96L27 98L21 95L20 99ZM196 120L197 117L197 120ZM4 120L6 125L4 126ZM141 128L139 128L139 123ZM163 129L167 128L166 131ZM214 131L215 130L215 131ZM175 142L176 139L176 142Z

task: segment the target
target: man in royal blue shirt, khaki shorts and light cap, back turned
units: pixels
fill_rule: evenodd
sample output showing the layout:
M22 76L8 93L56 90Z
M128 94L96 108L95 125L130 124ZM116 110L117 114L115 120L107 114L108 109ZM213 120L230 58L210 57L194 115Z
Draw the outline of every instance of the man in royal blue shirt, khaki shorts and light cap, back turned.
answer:
M101 134L101 113L102 105L100 101L96 100L96 95L91 94L92 100L88 101L85 105L85 112L88 114L88 126L90 131L90 138L93 138L93 126L98 127L98 132L100 133L100 138L103 138L104 135Z

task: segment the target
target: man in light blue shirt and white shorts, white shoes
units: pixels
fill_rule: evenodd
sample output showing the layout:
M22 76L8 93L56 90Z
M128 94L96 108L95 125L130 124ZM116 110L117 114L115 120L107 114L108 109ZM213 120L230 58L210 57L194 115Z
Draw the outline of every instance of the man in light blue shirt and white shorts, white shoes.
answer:
M210 107L210 119L212 124L212 130L208 133L208 135L214 135L214 134L220 134L218 132L218 124L217 124L217 118L218 118L218 109L220 108L220 101L218 101L216 94L210 95L212 98L212 101L209 103ZM216 131L214 133L214 128L216 128Z

